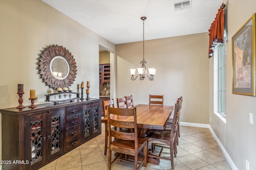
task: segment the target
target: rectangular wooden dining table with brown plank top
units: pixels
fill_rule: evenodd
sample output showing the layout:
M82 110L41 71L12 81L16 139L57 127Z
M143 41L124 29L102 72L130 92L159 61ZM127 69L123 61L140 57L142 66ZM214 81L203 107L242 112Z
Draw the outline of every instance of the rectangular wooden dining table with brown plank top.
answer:
M174 106L149 104L138 104L134 107L136 107L138 137L145 137L146 131L150 129L164 130L164 127L166 126L166 123L174 109ZM133 121L132 116L110 116L120 121ZM101 123L107 123L107 117L101 119ZM152 164L159 164L160 160L156 158L148 158L148 162Z

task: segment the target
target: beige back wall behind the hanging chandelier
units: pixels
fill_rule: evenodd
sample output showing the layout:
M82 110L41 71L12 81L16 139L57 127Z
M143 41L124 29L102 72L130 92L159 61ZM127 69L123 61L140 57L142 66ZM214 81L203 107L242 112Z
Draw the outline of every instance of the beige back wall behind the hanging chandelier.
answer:
M209 124L208 33L145 41L147 68L155 80L131 80L130 68L142 61L142 42L116 45L117 96L132 95L134 104L148 104L149 94L164 95L164 104L183 96L180 121ZM124 90L125 89L125 90Z

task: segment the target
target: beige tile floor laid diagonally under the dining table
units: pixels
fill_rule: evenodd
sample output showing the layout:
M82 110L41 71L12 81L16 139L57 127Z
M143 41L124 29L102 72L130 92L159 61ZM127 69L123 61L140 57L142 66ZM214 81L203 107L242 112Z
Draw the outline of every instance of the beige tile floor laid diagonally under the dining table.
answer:
M107 170L108 152L104 155L104 132L104 124L102 124L101 135L50 162L40 170ZM159 150L157 148L154 153ZM174 158L175 170L231 170L207 128L180 126L177 150L177 157ZM164 154L170 156L170 151L165 149ZM116 160L111 168L133 170L134 164ZM141 168L141 170L171 169L169 160L160 160L159 165L148 163L146 167Z

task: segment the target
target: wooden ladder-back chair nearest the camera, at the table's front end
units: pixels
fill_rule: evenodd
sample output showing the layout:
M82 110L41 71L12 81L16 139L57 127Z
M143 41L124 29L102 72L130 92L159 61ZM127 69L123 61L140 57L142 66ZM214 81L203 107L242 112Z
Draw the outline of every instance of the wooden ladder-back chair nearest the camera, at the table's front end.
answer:
M133 119L130 121L125 121L122 116L131 116ZM109 141L109 151L108 151L108 170L111 169L111 165L116 159L123 158L122 154L134 156L134 169L139 169L142 165L146 167L147 164L147 139L138 137L137 130L137 119L136 119L136 107L130 109L120 109L107 107L107 117L108 117L108 137L114 140ZM116 131L115 127L134 129L134 133L125 133ZM116 152L116 157L112 160L112 151ZM143 159L137 167L138 164L138 153L143 151ZM130 160L125 160L128 162L133 162Z

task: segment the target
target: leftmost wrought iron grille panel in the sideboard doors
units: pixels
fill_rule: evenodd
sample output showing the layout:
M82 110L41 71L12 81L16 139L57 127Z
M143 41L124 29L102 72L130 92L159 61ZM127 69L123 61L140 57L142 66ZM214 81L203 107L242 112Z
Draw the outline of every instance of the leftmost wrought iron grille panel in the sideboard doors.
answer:
M31 121L31 164L42 160L42 119Z

